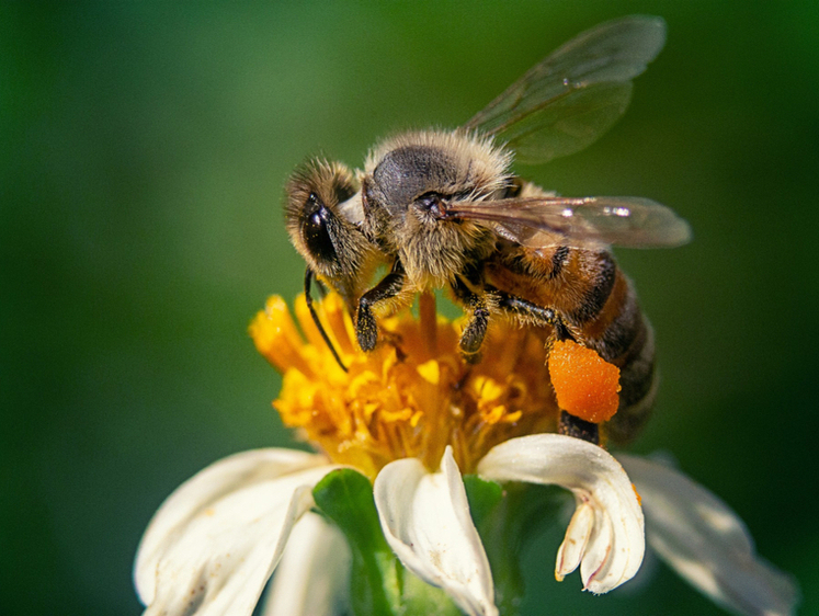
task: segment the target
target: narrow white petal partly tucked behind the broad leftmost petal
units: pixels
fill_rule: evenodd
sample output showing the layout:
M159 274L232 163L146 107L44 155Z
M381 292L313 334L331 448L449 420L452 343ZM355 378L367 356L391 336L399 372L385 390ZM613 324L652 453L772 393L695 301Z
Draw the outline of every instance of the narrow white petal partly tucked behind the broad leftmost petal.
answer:
M263 616L344 614L351 559L341 531L320 515L306 513L287 540Z

